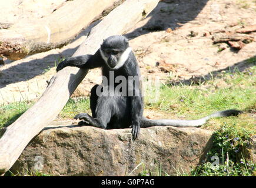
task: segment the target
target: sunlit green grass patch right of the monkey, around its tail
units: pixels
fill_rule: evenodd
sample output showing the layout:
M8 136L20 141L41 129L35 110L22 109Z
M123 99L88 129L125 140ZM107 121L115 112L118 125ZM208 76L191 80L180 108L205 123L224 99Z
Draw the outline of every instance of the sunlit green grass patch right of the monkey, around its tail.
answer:
M162 85L157 102L148 102L145 97L145 108L168 113L169 118L197 119L218 110L240 109L244 115L238 117L221 117L211 119L204 127L218 128L223 122L237 123L241 127L253 129L255 112L256 67L243 72L222 72L220 78L212 78L200 85Z

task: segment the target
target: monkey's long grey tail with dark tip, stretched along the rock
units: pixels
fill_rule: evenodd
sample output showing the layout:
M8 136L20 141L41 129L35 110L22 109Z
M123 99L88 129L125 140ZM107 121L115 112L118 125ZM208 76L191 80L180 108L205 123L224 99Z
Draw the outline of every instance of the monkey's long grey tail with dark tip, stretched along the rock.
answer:
M152 127L152 126L200 127L205 122L207 122L208 119L212 117L237 116L240 113L242 113L242 111L240 110L234 110L234 109L223 110L223 111L212 113L209 116L205 116L205 117L202 117L201 119L196 119L196 120L178 120L178 119L152 120L146 117L142 117L140 126L141 127Z

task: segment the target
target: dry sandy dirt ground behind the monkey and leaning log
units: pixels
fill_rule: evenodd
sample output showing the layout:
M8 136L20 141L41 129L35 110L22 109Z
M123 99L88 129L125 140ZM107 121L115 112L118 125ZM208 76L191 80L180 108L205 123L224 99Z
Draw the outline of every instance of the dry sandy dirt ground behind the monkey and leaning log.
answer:
M242 70L251 66L246 60L256 55L255 40L239 51L222 43L225 49L218 52L220 44L212 42L212 33L217 29L234 31L256 24L255 18L256 1L252 0L162 1L127 37L143 76L159 76L162 82L187 80L228 67ZM55 62L71 56L87 33L85 29L64 48L19 61L6 60L5 65L0 65L0 104L39 98L46 88L46 80L55 74ZM255 32L248 35L256 38ZM101 83L100 75L99 69L90 70L74 96L88 95L95 83Z

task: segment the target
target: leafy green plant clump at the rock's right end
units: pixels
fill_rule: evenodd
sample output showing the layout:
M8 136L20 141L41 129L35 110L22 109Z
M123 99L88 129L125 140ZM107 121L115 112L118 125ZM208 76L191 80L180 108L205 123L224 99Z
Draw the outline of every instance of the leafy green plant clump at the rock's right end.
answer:
M214 132L213 146L204 163L185 176L255 176L256 163L251 162L248 145L252 131L224 123ZM217 156L219 164L212 164L212 156Z

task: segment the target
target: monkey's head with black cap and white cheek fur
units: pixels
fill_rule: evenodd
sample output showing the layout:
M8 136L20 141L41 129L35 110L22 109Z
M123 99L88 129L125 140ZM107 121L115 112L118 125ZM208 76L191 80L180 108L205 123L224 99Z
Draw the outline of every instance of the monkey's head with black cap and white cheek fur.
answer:
M127 60L131 48L122 35L109 36L100 48L101 56L110 69L119 69Z

